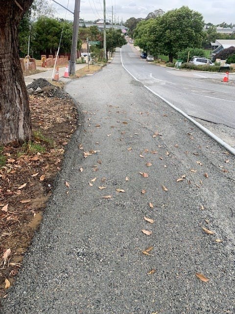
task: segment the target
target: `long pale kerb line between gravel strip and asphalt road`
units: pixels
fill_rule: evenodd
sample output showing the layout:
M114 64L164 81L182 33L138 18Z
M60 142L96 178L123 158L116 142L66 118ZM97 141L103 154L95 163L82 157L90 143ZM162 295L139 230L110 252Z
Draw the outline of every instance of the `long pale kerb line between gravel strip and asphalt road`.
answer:
M122 62L122 56L121 56L121 48L120 48L120 58L121 58L121 64L123 66L123 68L126 70L126 72L128 72L130 74L130 76L132 76L135 80L137 80L138 82L141 82L138 78L134 77L133 74L131 74L127 68L124 66L123 62ZM152 89L150 89L149 87L143 85L146 89L148 89L151 93L153 93L154 95L156 95L157 97L161 98L166 104L168 104L169 106L171 106L173 109L175 109L176 111L178 111L179 113L181 113L184 117L186 117L189 121L191 121L195 126L197 126L200 130L202 130L204 133L206 133L207 135L209 135L213 140L215 140L219 145L221 145L222 147L224 147L227 151L229 151L231 154L235 155L235 149L233 147L231 147L229 144L225 143L221 138L219 138L218 136L216 136L214 133L212 133L210 130L208 130L207 128L205 128L204 126L202 126L200 123L198 123L197 121L195 121L194 119L192 119L190 116L188 116L188 114L186 114L184 111L182 111L181 109L177 108L175 105L171 104L170 102L168 102L166 99L164 99L162 96L160 96L159 94L155 93Z

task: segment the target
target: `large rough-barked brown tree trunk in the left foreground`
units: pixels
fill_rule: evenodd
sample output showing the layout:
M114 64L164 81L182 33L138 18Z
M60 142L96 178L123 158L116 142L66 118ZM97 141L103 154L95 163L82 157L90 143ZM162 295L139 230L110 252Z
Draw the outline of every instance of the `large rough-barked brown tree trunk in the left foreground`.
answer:
M33 0L0 0L0 145L31 135L28 94L18 50L18 26Z

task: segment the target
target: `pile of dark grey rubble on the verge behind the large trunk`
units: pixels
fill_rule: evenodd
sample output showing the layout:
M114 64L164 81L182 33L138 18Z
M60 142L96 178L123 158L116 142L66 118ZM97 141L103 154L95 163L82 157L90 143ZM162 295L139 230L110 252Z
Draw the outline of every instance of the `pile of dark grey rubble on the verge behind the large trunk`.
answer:
M28 94L37 94L42 97L58 97L62 99L71 98L68 93L65 93L60 87L52 85L45 78L34 79L27 85Z

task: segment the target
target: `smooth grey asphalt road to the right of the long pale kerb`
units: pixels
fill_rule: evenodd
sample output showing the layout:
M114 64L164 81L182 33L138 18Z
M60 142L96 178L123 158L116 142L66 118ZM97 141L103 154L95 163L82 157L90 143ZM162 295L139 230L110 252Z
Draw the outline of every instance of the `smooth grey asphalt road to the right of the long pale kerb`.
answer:
M223 82L225 73L182 71L160 67L141 59L132 45L122 47L127 70L144 85L189 116L235 129L235 75Z

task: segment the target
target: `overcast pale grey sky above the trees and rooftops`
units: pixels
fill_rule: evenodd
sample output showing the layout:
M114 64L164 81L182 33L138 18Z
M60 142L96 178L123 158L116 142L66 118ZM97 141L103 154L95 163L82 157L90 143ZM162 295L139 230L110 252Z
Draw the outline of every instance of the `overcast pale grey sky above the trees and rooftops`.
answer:
M68 0L56 0L65 7L67 7ZM56 17L65 18L66 10L61 8L58 4L51 2L55 7L57 13ZM74 11L75 0L69 0L69 9ZM112 6L113 19L123 23L131 18L145 18L149 12L156 9L162 9L167 12L172 9L180 8L187 5L189 9L200 12L206 23L221 24L235 24L235 0L106 0L106 19L112 20ZM84 20L98 20L103 19L103 0L81 0L80 3L80 18ZM72 20L73 15L67 13L66 19Z

